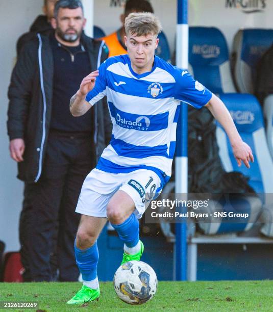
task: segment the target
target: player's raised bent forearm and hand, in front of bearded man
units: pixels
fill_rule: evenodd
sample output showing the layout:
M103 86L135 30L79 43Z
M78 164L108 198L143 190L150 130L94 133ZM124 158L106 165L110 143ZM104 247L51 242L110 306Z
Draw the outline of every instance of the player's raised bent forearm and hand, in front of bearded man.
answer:
M92 71L84 77L81 82L80 89L70 99L70 112L74 117L84 115L91 105L86 101L86 95L94 89L98 70Z

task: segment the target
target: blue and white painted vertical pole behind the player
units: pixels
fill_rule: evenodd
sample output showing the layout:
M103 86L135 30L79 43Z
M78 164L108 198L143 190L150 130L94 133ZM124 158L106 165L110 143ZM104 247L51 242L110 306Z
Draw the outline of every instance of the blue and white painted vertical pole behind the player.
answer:
M188 69L188 0L177 0L176 65ZM188 108L181 102L177 129L176 194L188 192ZM187 279L187 223L176 224L176 279Z

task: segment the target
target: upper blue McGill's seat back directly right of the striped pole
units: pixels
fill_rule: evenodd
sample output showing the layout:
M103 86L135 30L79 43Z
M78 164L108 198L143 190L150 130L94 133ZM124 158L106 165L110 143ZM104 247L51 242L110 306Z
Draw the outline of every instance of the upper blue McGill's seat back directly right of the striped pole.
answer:
M217 28L189 28L189 71L213 93L235 92L228 45Z

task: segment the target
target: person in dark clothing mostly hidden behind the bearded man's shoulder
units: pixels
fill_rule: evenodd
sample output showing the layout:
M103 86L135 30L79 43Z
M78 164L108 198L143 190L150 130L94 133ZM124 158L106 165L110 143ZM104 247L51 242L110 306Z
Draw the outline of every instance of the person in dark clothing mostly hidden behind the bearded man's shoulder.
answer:
M47 35L53 30L51 25L51 19L54 17L54 6L57 1L58 0L44 0L44 15L37 16L37 18L30 27L30 31L26 34L23 34L18 39L16 44L17 55L19 55L24 44L36 37L37 33L41 35Z

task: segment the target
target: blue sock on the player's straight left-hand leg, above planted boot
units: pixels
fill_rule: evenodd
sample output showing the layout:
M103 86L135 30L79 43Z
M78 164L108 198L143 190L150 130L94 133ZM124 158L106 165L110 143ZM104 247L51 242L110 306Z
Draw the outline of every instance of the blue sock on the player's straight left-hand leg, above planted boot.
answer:
M74 243L77 266L82 273L83 280L93 280L97 277L98 249L96 242L93 246L81 250Z

